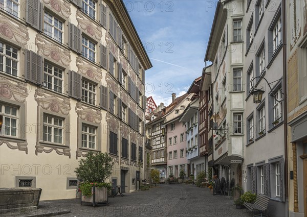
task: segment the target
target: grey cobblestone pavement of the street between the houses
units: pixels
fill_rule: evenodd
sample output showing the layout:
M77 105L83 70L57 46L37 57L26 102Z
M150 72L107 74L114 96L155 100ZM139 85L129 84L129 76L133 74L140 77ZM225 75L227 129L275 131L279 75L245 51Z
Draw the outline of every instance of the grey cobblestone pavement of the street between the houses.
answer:
M80 199L41 201L41 205L70 209L60 216L235 216L250 217L246 209L236 209L233 200L213 196L209 188L195 185L158 185L149 190L109 198L107 206L81 206Z

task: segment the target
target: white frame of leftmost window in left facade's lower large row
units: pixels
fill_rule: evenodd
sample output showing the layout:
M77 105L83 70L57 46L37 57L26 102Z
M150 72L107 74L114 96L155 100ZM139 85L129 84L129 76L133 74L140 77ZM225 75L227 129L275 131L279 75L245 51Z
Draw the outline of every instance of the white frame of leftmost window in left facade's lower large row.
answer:
M7 104L0 104L0 114L3 115L3 125L2 125L2 130L1 130L1 135L3 136L11 136L14 138L18 137L18 124L19 124L19 108L16 106L11 106ZM6 113L6 107L9 108L9 113ZM15 110L12 114L12 109ZM7 125L7 121L9 120L10 125ZM15 122L15 126L12 126L12 120ZM6 134L8 132L9 134ZM12 130L15 132L15 135L12 135Z

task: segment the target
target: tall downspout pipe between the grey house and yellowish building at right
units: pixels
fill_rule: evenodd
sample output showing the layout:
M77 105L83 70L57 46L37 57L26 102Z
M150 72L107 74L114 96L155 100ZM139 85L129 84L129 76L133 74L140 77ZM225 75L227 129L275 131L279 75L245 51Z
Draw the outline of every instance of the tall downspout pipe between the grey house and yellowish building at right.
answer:
M284 201L286 202L286 216L289 213L289 192L288 192L288 97L287 97L287 28L286 28L286 6L287 1L282 2L282 68L283 68L283 128L284 128Z

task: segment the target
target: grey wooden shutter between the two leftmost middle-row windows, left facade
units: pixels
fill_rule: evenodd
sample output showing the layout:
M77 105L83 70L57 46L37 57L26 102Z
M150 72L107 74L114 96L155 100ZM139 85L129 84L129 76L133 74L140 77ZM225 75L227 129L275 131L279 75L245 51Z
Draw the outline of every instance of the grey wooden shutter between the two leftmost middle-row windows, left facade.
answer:
M43 78L42 57L33 51L25 50L25 80L41 85Z

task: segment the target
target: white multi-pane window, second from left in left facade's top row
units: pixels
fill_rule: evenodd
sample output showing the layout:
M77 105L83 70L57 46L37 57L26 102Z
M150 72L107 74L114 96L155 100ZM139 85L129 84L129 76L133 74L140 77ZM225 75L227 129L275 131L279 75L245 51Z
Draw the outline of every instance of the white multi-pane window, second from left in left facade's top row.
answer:
M63 23L48 12L43 18L43 32L62 43Z

